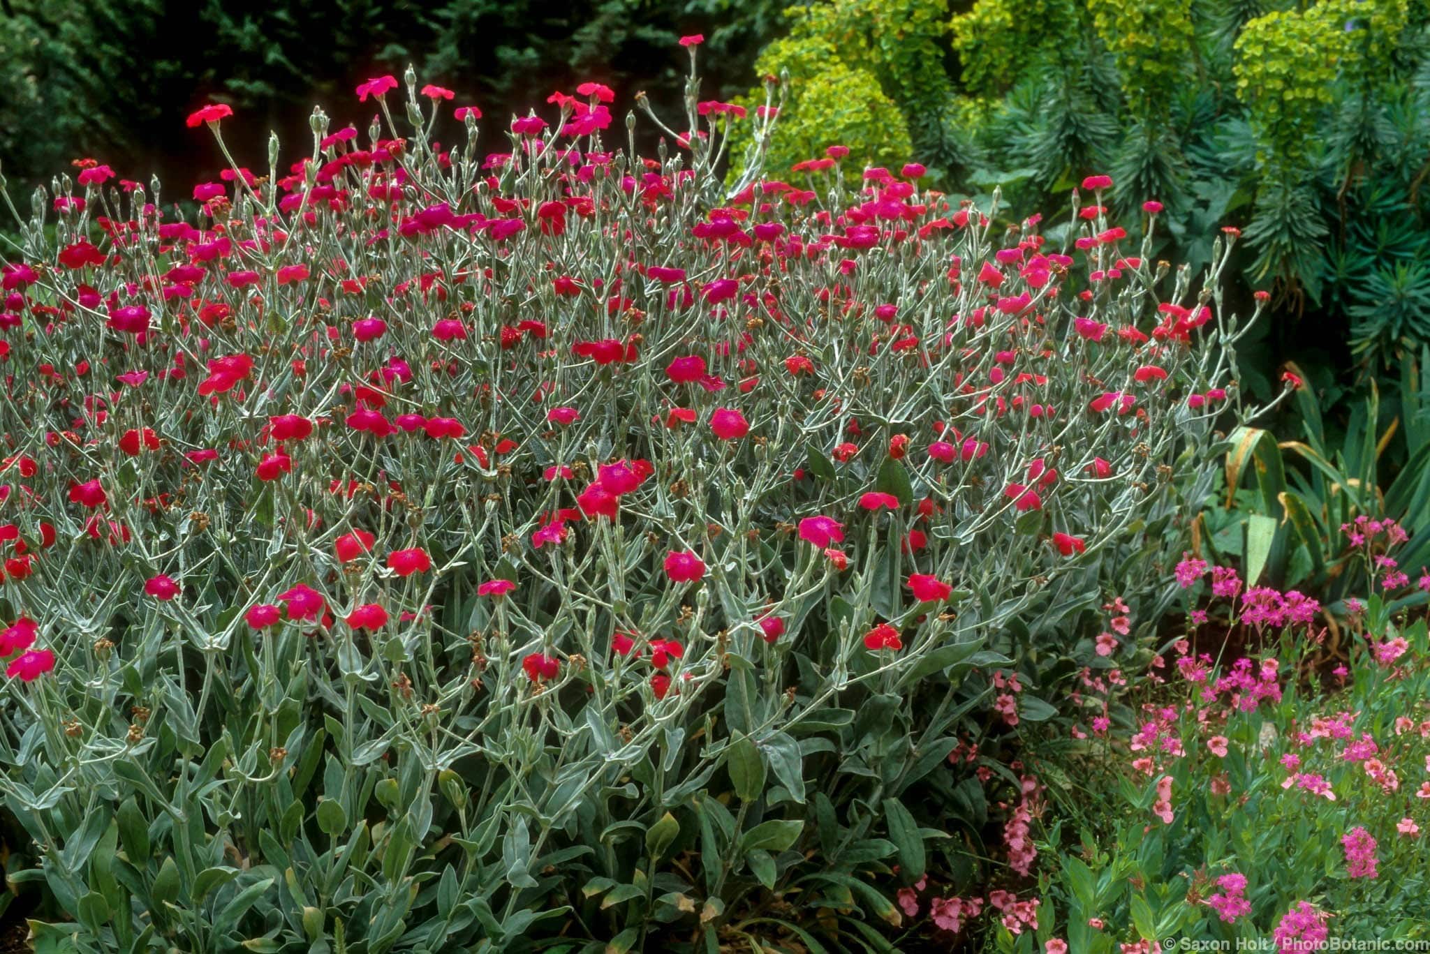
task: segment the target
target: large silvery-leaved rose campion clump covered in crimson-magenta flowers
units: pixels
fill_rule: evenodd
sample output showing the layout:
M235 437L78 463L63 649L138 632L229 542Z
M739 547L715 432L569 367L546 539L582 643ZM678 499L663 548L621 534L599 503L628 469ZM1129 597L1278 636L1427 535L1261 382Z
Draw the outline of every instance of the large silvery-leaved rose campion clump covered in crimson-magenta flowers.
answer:
M1014 875L965 845L1078 614L1180 552L1236 399L1216 273L1103 206L994 236L914 166L764 179L772 109L726 193L694 77L658 159L596 83L485 156L399 89L192 216L92 166L7 253L37 937L714 945L832 931L794 890L898 925L895 865L1012 898L1022 837Z

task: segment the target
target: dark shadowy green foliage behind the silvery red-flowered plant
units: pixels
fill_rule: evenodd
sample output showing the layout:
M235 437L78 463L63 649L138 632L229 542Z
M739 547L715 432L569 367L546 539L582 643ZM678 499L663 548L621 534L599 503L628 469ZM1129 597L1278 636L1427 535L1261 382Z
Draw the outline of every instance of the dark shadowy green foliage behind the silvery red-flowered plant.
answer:
M552 90L598 80L638 90L656 107L679 102L688 67L675 40L705 33L705 96L749 84L779 4L728 0L90 0L0 4L0 170L46 180L77 156L124 177L156 173L187 192L222 163L209 136L184 127L204 102L235 107L233 127L262 143L277 130L285 163L309 143L315 103L366 127L353 87L413 63L430 82L505 126ZM240 162L262 164L259 156ZM170 192L173 192L170 189ZM24 190L20 190L21 195Z

